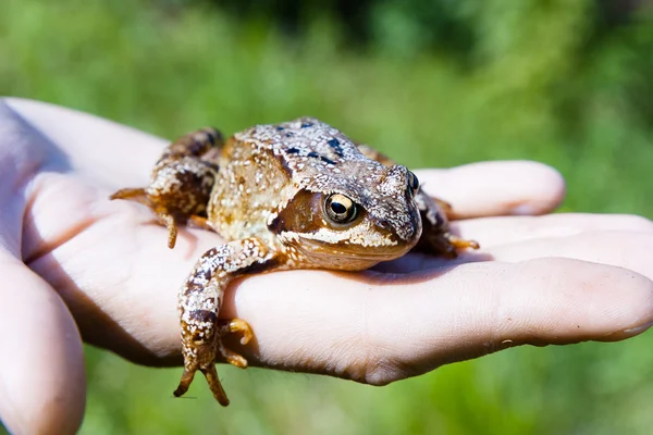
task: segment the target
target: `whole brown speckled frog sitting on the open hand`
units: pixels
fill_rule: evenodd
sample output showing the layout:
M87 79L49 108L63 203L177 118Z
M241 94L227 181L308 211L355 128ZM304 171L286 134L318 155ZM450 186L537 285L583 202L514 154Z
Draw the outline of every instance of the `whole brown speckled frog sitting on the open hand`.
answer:
M454 235L451 206L424 192L417 176L373 148L315 117L260 124L224 139L213 127L171 142L150 184L111 199L147 206L168 229L218 233L178 291L184 372L174 396L201 372L218 402L229 398L215 363L247 368L223 338L254 338L242 319L221 319L227 285L237 277L292 269L361 271L410 250L454 258L478 249Z

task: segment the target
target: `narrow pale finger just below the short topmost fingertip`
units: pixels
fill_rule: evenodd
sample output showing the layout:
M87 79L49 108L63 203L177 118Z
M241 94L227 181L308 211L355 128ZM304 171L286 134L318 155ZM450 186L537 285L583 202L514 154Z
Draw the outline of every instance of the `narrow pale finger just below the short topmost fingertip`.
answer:
M531 239L565 239L586 232L653 233L653 222L632 214L559 213L544 216L497 216L460 221L453 226L465 238L478 240L483 249Z

